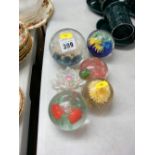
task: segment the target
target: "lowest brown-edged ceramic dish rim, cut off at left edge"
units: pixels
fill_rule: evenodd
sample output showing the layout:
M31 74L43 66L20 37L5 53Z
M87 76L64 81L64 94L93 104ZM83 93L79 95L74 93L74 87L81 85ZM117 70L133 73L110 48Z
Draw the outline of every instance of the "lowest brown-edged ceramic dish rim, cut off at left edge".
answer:
M21 88L19 88L19 118L21 118L21 115L24 111L24 104L25 104L25 97L24 93Z

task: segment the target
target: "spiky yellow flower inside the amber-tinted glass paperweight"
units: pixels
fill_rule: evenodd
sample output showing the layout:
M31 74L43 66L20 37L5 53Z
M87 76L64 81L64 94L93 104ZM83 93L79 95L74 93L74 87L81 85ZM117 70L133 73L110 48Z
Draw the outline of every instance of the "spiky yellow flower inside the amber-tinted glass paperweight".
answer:
M111 98L112 91L106 80L95 80L88 85L89 97L95 104L101 105L107 103Z

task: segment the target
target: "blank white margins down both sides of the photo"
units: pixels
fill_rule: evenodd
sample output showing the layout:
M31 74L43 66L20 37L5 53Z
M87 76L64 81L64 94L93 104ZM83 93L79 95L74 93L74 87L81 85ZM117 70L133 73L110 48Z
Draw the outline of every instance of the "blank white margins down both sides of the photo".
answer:
M136 154L154 155L155 3L136 0ZM9 11L8 11L9 10ZM18 1L2 1L0 154L19 153ZM9 46L8 46L9 44Z

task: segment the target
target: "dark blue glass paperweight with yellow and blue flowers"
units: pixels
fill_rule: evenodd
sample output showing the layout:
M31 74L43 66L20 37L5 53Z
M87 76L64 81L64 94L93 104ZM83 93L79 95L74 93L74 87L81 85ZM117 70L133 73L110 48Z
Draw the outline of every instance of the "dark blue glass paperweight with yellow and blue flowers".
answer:
M107 31L96 30L89 35L87 46L93 56L106 57L112 53L114 40Z

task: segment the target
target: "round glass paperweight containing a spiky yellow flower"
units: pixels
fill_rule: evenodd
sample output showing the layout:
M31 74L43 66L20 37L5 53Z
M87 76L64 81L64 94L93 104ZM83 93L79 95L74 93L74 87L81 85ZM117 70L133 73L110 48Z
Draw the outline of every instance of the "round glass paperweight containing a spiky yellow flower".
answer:
M111 101L113 89L107 80L94 79L86 83L82 94L90 107L101 107Z

